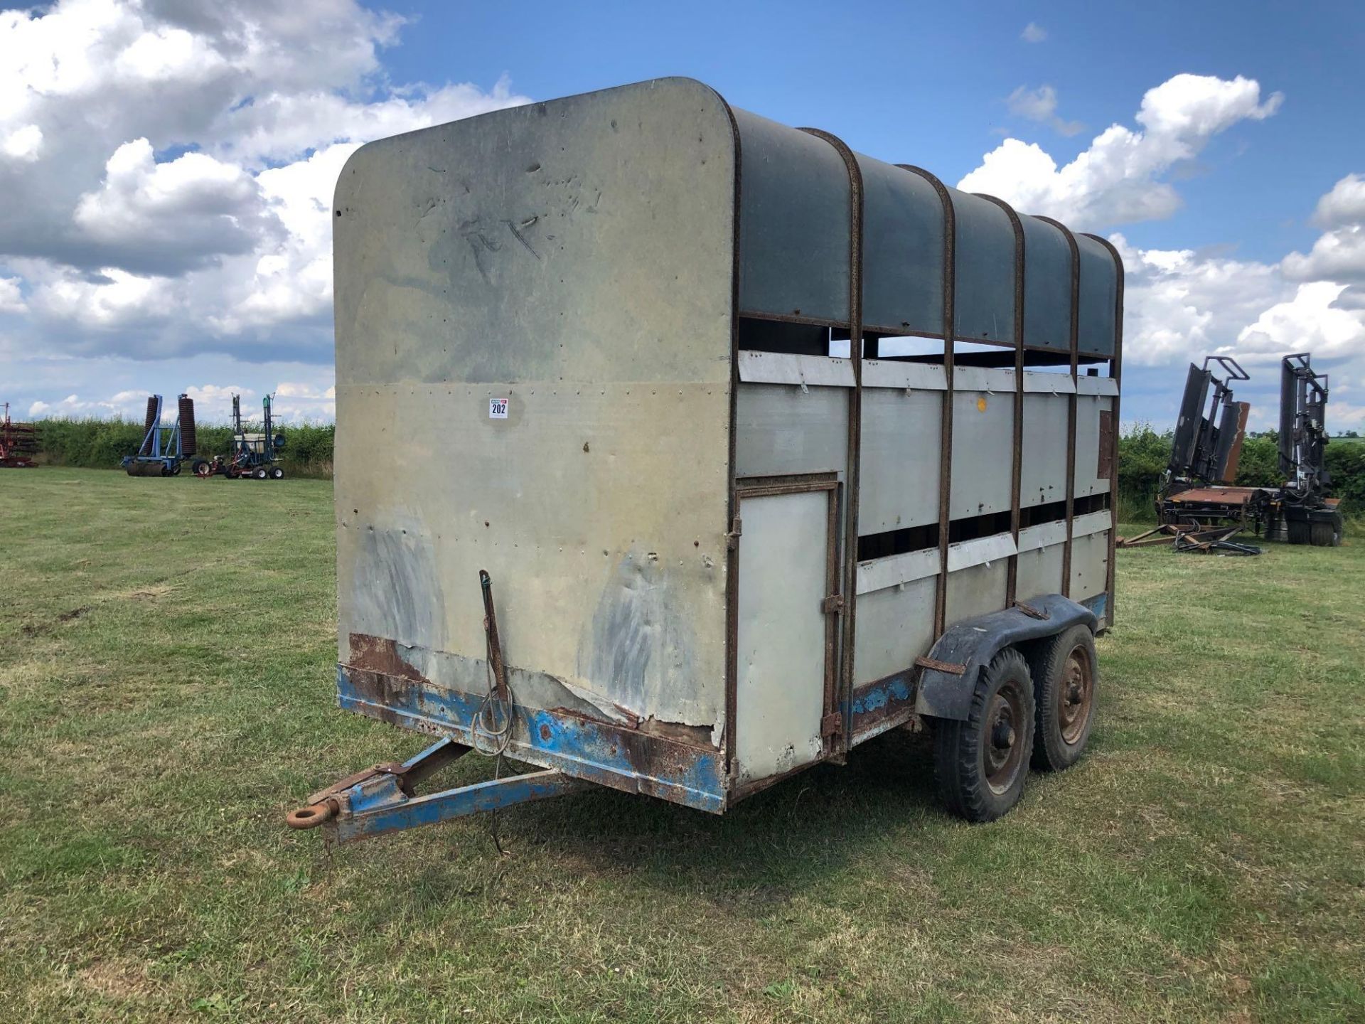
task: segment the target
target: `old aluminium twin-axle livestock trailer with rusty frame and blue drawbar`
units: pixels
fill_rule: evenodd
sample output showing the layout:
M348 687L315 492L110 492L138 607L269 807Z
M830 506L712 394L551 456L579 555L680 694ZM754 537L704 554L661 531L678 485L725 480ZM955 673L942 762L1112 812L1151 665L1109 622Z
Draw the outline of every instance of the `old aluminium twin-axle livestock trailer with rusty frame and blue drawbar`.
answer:
M371 142L333 214L339 700L438 740L291 825L722 812L898 726L980 821L1080 755L1106 240L688 79ZM415 795L470 748L542 770Z

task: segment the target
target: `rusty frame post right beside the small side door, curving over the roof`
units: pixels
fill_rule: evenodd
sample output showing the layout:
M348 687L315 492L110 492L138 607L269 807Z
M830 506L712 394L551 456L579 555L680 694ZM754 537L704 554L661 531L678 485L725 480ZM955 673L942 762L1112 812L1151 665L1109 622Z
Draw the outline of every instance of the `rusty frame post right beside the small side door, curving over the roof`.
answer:
M848 456L844 479L844 595L839 651L839 743L835 760L842 760L853 743L853 625L857 614L857 507L859 470L863 460L863 171L853 150L838 137L819 128L801 128L830 143L844 160L849 176L849 359L853 389L849 392Z

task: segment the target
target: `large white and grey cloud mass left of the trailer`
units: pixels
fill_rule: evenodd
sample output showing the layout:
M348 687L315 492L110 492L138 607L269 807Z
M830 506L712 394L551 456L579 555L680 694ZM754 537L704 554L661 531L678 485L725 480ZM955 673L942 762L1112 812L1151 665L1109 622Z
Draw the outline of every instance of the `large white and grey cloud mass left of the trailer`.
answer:
M329 359L345 157L526 101L505 81L390 83L378 53L401 25L355 0L0 11L0 259L31 335L86 356Z

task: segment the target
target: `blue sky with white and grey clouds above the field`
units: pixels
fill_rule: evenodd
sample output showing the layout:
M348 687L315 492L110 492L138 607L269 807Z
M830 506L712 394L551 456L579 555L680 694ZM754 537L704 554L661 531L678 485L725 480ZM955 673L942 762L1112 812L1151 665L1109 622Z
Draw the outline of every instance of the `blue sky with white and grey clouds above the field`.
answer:
M3 0L0 0L3 3ZM0 11L0 401L333 415L332 188L363 142L689 75L1127 268L1126 425L1233 355L1365 430L1365 4L59 0Z

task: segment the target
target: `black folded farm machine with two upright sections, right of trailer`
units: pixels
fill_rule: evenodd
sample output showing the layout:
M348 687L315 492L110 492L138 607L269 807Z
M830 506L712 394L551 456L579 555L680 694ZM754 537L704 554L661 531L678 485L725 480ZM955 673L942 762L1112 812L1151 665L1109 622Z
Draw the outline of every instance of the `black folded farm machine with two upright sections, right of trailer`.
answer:
M1211 363L1224 377L1215 375ZM1308 352L1280 360L1279 471L1284 483L1234 486L1250 404L1237 401L1231 382L1249 375L1228 356L1208 356L1189 367L1171 459L1156 497L1160 527L1126 538L1123 546L1175 538L1179 550L1218 550L1237 530L1250 528L1290 543L1335 546L1342 542L1338 500L1327 497L1331 475L1323 460L1327 374L1313 370ZM1181 546L1198 535L1212 546ZM1239 552L1249 553L1249 552Z

